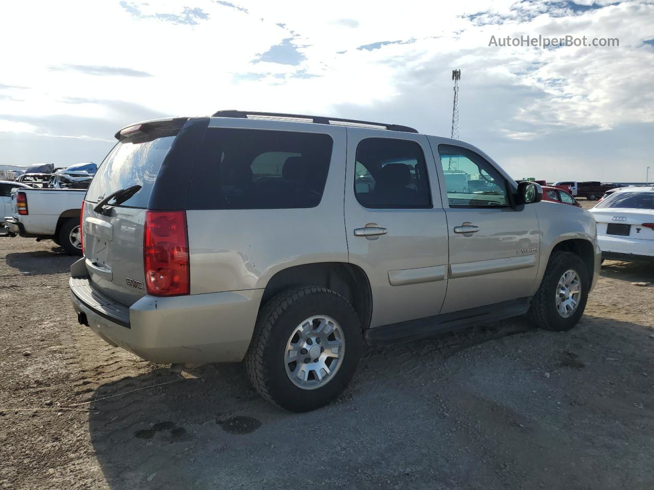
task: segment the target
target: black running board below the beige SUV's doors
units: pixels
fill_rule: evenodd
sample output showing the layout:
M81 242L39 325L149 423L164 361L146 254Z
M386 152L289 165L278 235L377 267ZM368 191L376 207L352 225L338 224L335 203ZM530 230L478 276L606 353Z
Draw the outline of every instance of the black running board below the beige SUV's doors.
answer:
M366 330L364 340L368 345L374 347L387 346L396 342L407 342L520 316L529 310L530 304L531 297L526 297L486 306L477 306L477 308L470 308L460 312L381 325L381 327Z

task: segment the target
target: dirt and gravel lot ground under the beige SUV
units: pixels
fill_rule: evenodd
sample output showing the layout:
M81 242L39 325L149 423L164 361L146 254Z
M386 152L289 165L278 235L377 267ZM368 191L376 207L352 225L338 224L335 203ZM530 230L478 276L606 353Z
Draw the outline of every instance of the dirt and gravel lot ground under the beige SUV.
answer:
M604 263L569 333L368 350L298 415L241 365L171 374L105 344L73 315L72 262L0 238L0 488L654 488L654 287L634 284L654 267Z

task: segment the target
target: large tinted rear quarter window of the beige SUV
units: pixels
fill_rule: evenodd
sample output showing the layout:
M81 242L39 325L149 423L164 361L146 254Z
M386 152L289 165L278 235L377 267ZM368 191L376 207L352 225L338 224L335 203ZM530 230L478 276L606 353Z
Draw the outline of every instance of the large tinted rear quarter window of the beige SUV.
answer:
M188 208L312 208L322 199L331 158L329 135L209 128Z

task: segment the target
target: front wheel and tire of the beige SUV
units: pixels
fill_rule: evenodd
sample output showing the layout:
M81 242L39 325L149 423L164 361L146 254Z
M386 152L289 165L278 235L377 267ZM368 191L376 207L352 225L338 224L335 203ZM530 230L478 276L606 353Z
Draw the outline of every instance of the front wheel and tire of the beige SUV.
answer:
M542 329L570 330L583 315L590 287L588 270L579 255L554 252L532 298L528 316Z

